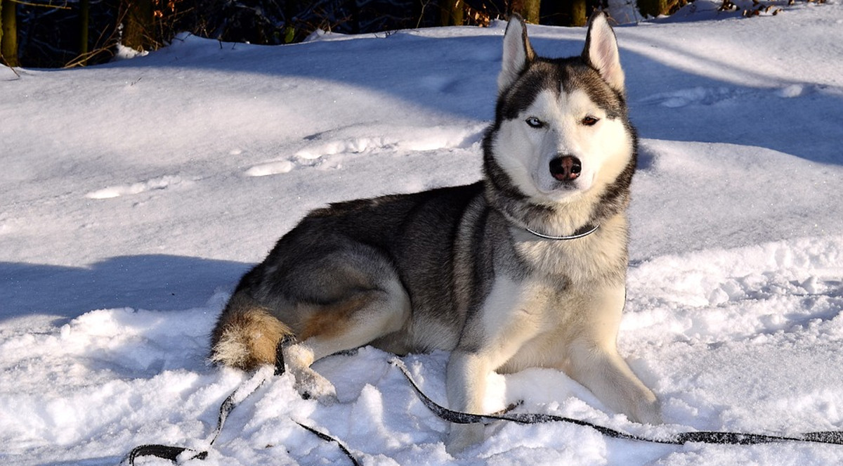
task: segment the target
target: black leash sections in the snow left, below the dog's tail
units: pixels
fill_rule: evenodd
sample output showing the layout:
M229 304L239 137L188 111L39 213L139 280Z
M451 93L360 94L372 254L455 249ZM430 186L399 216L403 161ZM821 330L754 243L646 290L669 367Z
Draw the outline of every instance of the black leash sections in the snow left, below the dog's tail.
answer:
M255 372L255 374L250 378L250 380L243 382L233 393L228 395L228 398L225 398L223 404L219 407L219 415L217 416L217 428L211 434L211 440L208 442L208 448L213 446L213 442L217 441L217 437L219 436L220 432L223 431L223 425L225 425L225 420L228 419L228 415L234 408L242 403L246 398L258 389L258 387L262 386L267 380L270 380L272 376L282 376L284 374L284 357L282 355L282 349L284 346L293 343L293 339L287 338L282 339L281 342L278 343L276 347L276 365L272 374L267 374L268 368L259 369ZM348 448L340 442L339 439L336 437L330 436L325 434L325 432L320 432L314 429L309 425L304 425L298 420L293 420L296 424L300 425L304 430L313 433L315 436L318 436L320 439L324 440L325 442L334 442L340 448L340 450L346 455L354 466L360 466L360 463L357 461L357 458L354 458L352 452L348 450ZM157 444L148 444L148 445L141 445L139 447L132 448L132 451L126 454L126 457L123 458L121 464L126 464L127 466L135 466L135 459L142 458L142 457L155 457L155 458L163 458L167 459L173 463L183 463L185 461L189 461L191 459L205 459L208 456L207 450L196 450L194 448L188 447L173 447L170 445L157 445Z

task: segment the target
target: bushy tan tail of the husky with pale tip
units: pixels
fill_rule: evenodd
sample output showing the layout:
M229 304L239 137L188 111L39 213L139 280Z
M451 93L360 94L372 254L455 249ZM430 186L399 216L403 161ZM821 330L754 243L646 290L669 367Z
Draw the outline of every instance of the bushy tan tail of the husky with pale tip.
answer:
M252 371L274 365L279 341L293 330L266 306L245 293L234 293L211 335L212 362Z

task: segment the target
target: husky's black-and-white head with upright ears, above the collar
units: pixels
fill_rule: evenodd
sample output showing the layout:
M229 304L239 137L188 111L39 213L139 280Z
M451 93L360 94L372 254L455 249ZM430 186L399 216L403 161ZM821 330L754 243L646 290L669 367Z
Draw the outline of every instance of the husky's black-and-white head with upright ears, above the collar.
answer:
M497 85L496 119L484 141L492 183L530 203L558 206L631 178L636 136L604 14L589 20L581 56L555 59L538 57L524 22L513 18Z

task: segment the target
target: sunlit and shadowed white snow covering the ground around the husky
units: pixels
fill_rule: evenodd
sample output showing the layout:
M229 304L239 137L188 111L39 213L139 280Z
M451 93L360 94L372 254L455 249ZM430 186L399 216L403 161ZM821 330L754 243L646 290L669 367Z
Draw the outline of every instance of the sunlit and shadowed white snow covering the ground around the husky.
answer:
M491 375L487 409L523 400L519 412L640 435L843 430L843 6L741 19L713 4L616 28L641 137L619 345L665 425L631 423L546 369ZM207 447L250 377L206 360L240 274L309 209L475 181L504 27L292 46L181 35L105 66L0 68L0 463ZM583 29L529 32L545 55L583 46ZM843 462L840 446L502 423L451 458L447 425L391 357L319 361L331 406L272 378L188 463L346 462L293 420L364 464ZM447 358L403 359L440 403Z

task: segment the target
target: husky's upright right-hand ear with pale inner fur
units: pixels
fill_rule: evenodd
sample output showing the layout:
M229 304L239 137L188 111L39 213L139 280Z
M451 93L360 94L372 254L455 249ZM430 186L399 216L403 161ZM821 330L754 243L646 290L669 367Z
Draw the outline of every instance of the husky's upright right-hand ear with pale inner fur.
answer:
M620 68L618 42L603 12L597 12L588 19L583 60L596 69L612 89L624 92L624 70Z

